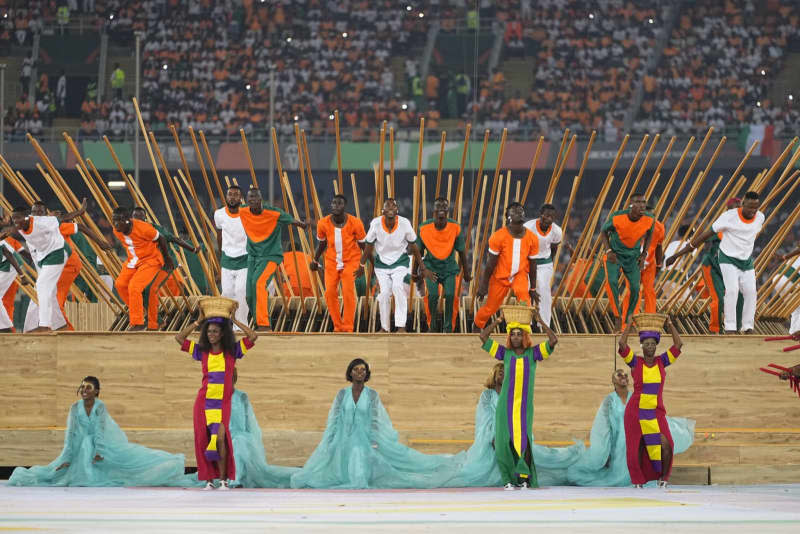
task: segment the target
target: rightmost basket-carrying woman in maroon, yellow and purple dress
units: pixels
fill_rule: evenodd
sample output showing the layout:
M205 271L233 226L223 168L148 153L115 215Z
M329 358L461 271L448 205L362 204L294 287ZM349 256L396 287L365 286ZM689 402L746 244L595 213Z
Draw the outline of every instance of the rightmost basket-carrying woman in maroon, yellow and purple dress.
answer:
M667 318L664 330L672 335L672 347L656 355L661 333L640 330L642 356L636 356L628 346L634 321L631 321L619 339L619 355L631 368L633 395L625 406L625 442L628 471L631 482L640 488L649 480L658 480L659 487L666 487L672 471L674 444L667 424L663 392L671 365L681 353L683 342L678 331Z

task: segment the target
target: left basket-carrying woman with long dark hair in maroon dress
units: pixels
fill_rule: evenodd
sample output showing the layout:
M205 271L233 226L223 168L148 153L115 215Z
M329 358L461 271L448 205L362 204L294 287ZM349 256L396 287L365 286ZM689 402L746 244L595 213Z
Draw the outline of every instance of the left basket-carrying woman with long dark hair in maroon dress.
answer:
M202 313L202 312L201 312ZM181 350L203 365L203 383L194 403L194 451L197 458L197 477L206 481L205 489L229 489L228 480L236 478L236 463L229 432L233 370L236 360L253 347L258 334L247 325L233 320L245 336L236 341L230 319L212 317L197 320L175 336ZM200 339L186 339L189 333L202 326Z

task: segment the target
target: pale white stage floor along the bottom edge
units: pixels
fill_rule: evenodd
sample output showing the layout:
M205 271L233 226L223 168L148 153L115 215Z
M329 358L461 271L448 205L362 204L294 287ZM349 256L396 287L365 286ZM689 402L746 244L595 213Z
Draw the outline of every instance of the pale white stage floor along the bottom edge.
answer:
M797 532L800 484L503 491L16 488L0 531Z

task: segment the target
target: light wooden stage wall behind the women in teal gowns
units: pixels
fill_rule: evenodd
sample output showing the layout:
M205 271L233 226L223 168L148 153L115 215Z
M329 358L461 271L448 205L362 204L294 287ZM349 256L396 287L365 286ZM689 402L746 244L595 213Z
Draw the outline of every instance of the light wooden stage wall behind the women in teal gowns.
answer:
M42 464L58 455L85 375L100 378L101 398L131 441L182 452L194 464L200 366L179 351L172 334L3 334L0 340L0 466ZM588 438L611 391L611 373L624 365L616 341L561 337L536 373L537 442ZM800 360L781 348L761 336L684 338L684 353L668 369L665 404L670 415L695 419L697 432L692 448L676 458L675 483L800 482L800 399L758 371ZM262 336L238 366L238 386L253 403L270 463L302 465L355 357L370 363L369 385L406 442L424 452L470 445L475 405L493 365L477 335L273 334Z

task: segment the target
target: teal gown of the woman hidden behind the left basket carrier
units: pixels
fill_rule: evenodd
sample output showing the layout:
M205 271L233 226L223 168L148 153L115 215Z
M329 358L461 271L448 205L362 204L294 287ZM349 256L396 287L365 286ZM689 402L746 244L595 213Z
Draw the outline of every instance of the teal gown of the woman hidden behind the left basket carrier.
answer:
M234 390L231 398L229 425L236 461L236 480L231 486L244 488L288 488L298 467L267 464L267 454L261 437L261 427L250 405L247 393Z

